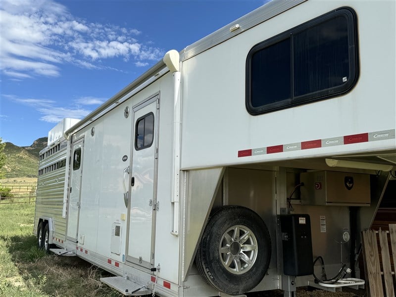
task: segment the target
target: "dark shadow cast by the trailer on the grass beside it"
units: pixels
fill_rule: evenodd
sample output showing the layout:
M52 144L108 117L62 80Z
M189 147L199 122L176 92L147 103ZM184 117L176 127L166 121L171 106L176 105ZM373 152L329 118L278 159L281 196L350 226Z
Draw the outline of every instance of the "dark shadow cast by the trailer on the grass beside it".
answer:
M122 296L99 281L110 273L78 257L47 254L35 236L0 236L28 290L49 296Z

